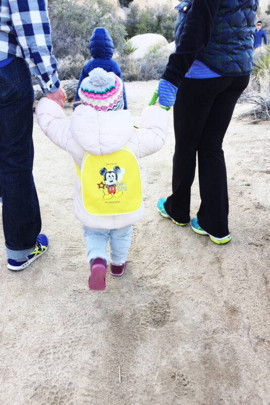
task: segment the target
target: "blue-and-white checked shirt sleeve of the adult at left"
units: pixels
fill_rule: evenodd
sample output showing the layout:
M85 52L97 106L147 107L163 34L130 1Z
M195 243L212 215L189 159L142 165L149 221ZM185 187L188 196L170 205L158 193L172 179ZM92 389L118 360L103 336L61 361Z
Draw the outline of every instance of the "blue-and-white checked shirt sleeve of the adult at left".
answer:
M52 54L51 27L46 0L10 0L16 40L31 73L44 93L56 91L60 82Z

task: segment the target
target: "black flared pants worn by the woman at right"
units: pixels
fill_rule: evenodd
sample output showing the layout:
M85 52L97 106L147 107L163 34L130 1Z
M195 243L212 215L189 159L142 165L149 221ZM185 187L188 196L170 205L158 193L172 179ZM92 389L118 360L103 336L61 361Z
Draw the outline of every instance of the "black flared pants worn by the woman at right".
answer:
M191 186L198 153L201 196L198 223L216 237L229 234L227 174L222 141L236 102L248 82L249 75L206 79L185 77L174 104L172 194L164 208L176 222L190 221Z

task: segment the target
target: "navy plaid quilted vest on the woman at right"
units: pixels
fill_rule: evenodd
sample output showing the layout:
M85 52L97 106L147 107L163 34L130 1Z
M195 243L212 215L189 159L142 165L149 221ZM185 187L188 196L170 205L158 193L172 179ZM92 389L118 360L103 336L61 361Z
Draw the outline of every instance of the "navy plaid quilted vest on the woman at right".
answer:
M206 48L197 54L208 67L223 76L251 73L253 65L253 32L259 0L221 0L213 30ZM175 44L181 42L187 13L192 0L183 0L177 7Z

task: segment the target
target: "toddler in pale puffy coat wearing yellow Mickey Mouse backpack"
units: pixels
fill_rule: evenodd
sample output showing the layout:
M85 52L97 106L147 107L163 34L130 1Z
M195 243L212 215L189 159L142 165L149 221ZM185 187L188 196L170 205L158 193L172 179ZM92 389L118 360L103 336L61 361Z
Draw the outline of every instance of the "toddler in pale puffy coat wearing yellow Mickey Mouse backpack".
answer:
M139 157L157 152L166 137L169 113L159 106L142 113L142 128L133 127L123 110L122 80L96 68L82 80L82 104L67 120L54 101L42 98L36 116L44 134L69 152L75 162L75 216L82 223L89 288L104 290L110 242L111 274L124 272L132 224L143 217Z

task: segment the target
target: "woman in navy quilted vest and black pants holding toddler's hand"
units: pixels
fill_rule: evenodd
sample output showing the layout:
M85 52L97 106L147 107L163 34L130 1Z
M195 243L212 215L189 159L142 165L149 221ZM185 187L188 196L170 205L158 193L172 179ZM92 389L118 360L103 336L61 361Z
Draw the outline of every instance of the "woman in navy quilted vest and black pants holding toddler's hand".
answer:
M176 96L172 194L159 199L159 213L189 223L198 153L201 205L191 226L216 244L231 240L222 141L249 82L257 7L258 0L183 0L176 48L159 82L162 105L173 105Z

